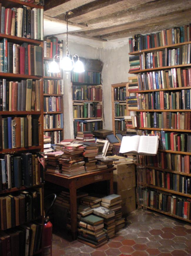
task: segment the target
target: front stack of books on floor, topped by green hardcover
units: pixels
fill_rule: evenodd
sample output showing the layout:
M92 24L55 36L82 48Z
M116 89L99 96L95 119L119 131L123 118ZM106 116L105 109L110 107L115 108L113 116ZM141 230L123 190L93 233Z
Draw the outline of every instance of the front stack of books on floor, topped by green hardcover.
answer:
M108 235L103 231L103 218L90 214L80 217L78 225L78 241L93 248L107 243Z

